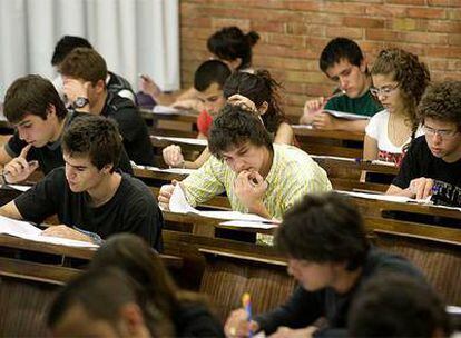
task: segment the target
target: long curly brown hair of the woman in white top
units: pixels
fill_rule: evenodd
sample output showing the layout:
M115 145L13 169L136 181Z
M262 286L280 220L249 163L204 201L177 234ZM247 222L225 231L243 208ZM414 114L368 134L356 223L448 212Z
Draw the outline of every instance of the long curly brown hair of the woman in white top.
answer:
M392 74L399 83L405 113L412 123L413 131L418 129L416 107L431 81L425 63L418 56L403 49L391 48L380 52L371 70L373 74Z

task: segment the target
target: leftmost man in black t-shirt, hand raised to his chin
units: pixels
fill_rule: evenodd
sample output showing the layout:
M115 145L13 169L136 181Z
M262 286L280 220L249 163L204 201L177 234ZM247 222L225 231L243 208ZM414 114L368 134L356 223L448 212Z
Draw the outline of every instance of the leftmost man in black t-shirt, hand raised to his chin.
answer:
M49 80L35 74L17 79L4 97L4 116L16 127L0 149L4 182L21 182L38 167L48 173L65 165L61 137L78 113L68 113ZM133 173L125 150L120 160L120 169Z

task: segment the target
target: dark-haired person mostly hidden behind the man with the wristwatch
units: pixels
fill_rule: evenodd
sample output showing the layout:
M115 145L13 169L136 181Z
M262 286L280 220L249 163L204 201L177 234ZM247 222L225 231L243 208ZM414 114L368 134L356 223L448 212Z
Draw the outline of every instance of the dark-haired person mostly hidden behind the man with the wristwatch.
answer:
M63 36L55 46L55 51L51 57L51 66L60 72L60 66L66 57L76 48L91 48L91 43L87 39L73 36ZM59 74L55 80L53 84L61 96L63 95L63 82L62 77ZM106 87L109 92L118 95L122 98L130 99L136 103L135 92L133 91L131 84L119 74L111 71L107 72Z

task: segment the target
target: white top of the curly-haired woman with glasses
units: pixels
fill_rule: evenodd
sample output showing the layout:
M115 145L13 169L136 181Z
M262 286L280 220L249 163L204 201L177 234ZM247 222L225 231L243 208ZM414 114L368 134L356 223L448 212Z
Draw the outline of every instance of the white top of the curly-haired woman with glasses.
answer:
M411 142L411 136L402 146L395 146L389 139L388 125L389 125L389 111L382 110L376 112L365 128L365 133L377 141L377 149L380 151L391 153L402 153L402 148ZM415 138L424 135L421 126L418 127Z

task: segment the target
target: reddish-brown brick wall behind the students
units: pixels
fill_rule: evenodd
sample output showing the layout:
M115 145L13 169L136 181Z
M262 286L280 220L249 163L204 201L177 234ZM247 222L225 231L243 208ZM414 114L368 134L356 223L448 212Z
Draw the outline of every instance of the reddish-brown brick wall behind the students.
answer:
M209 57L208 36L234 24L261 34L253 64L283 82L293 118L307 98L333 89L317 59L337 36L354 39L371 63L381 49L399 47L420 56L433 80L461 80L461 0L180 0L183 86Z

